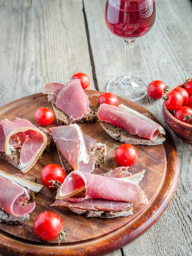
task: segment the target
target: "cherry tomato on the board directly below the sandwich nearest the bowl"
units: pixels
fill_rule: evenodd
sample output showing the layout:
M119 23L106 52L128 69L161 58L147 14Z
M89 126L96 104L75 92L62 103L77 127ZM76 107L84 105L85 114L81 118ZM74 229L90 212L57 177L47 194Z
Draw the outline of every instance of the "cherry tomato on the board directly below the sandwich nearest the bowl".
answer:
M133 145L126 143L115 150L114 157L120 166L132 166L138 160L138 151Z

